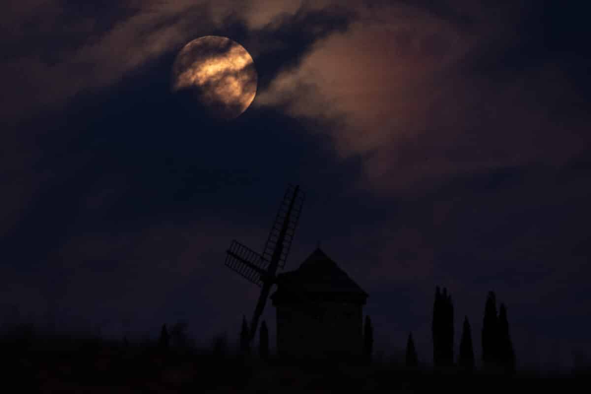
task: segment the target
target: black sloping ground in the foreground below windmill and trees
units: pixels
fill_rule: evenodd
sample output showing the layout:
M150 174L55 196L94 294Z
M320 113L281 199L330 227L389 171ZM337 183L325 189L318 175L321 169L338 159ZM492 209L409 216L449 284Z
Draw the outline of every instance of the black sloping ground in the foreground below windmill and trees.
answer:
M408 370L394 363L285 362L224 351L72 340L4 341L2 375L18 392L43 393L502 393L576 392L589 375L514 377ZM551 377L552 379L543 379ZM573 379L574 378L574 379ZM5 379L5 383L8 383ZM12 384L11 383L11 384ZM583 386L581 386L581 383Z

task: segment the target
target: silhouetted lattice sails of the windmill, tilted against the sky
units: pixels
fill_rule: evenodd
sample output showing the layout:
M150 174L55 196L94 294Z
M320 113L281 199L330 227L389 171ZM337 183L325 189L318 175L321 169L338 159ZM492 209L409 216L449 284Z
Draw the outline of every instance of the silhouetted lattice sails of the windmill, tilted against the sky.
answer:
M230 248L226 251L225 265L261 287L261 295L256 302L249 329L249 341L255 337L259 318L267 303L271 287L277 279L277 269L285 267L303 204L304 193L300 186L288 185L262 254L236 240L232 240Z

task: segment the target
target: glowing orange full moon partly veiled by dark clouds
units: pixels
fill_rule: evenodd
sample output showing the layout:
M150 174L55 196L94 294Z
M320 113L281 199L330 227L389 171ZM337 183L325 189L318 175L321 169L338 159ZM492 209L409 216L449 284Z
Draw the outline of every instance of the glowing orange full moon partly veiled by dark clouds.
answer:
M207 35L186 44L173 64L171 89L189 95L195 110L231 120L256 95L257 75L250 54L227 37Z

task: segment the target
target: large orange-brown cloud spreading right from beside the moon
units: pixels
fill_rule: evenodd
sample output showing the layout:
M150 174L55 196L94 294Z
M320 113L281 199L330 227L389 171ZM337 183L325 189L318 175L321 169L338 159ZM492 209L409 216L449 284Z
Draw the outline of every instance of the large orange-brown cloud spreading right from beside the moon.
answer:
M361 157L360 185L382 193L504 165L560 165L576 155L584 126L560 115L561 97L577 100L564 69L546 62L501 80L479 74L487 48L519 40L517 23L527 10L468 9L468 27L420 6L360 12L256 103L333 120L322 132L336 155Z

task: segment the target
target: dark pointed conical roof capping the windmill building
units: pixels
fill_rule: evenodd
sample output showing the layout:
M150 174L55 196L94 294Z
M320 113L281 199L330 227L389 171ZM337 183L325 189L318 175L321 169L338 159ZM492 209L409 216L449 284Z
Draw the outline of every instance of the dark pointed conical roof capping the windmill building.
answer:
M300 267L277 276L274 302L293 295L315 294L320 298L352 298L365 302L368 294L320 248L314 250Z

